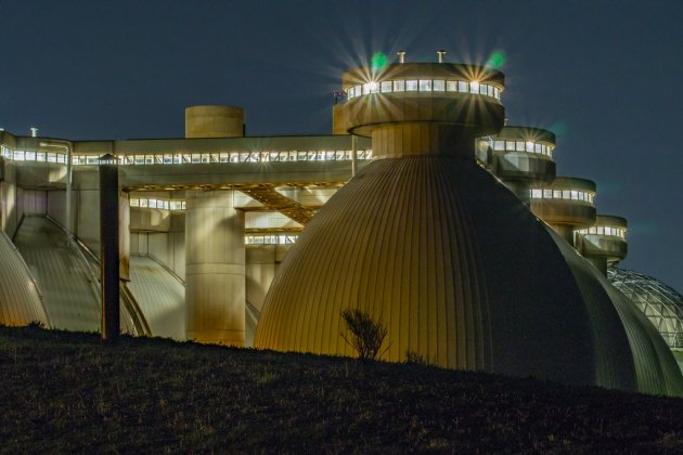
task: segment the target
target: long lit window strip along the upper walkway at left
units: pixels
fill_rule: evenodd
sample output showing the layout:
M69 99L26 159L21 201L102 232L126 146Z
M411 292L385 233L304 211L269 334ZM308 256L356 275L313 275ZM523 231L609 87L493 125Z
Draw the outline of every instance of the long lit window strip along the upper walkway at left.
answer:
M66 154L53 152L12 151L2 147L2 156L14 161L41 161L66 164ZM274 162L274 161L347 161L352 151L291 151L291 152L221 152L185 154L119 155L119 165L181 165L217 162ZM372 151L358 151L357 159L372 159ZM99 155L74 155L72 162L98 165Z

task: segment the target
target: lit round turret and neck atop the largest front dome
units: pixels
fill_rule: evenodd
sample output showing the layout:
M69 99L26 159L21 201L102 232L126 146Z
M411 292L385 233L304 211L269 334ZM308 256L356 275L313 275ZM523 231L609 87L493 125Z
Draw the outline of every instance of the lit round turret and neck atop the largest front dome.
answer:
M475 138L503 127L502 73L477 65L399 63L343 76L347 101L334 131L372 136L375 158L446 154L474 158Z

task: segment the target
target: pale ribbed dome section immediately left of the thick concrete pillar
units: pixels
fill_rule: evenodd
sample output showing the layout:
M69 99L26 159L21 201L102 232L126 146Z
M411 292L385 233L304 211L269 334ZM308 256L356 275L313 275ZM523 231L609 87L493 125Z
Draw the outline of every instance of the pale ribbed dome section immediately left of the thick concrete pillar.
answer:
M149 257L130 257L131 290L152 336L185 339L185 287Z

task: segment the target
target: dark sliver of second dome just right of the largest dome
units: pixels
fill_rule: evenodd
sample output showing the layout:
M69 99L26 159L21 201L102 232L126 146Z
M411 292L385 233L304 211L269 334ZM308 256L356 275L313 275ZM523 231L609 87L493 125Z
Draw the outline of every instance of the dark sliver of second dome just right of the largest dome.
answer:
M585 336L591 339L595 349L595 385L637 391L636 365L630 339L602 275L550 226L546 226L546 231L571 269L591 317L591 330Z

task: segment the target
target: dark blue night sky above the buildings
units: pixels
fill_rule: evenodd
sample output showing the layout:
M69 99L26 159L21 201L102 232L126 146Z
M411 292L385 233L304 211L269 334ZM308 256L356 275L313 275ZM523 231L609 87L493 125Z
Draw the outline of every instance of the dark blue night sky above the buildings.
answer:
M330 133L347 67L438 49L502 52L510 125L554 131L558 176L629 220L622 266L683 291L680 0L0 0L0 127L179 138L185 106L234 104L249 135Z

